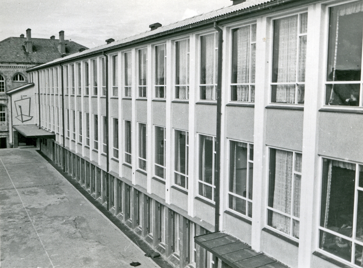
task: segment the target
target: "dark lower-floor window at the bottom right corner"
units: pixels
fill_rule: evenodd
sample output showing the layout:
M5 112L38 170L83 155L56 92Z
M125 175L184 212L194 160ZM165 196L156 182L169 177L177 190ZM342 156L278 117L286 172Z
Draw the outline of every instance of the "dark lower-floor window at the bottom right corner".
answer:
M323 158L319 248L363 265L363 166Z

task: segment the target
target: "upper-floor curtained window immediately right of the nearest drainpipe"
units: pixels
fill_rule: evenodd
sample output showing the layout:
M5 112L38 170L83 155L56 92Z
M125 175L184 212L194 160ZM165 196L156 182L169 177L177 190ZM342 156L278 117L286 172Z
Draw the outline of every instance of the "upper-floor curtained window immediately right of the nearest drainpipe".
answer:
M254 102L256 24L232 30L231 101Z

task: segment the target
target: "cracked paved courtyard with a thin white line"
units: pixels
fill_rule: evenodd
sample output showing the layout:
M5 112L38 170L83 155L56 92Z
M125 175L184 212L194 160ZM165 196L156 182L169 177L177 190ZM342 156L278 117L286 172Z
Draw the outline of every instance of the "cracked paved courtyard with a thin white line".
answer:
M0 265L158 267L33 148L0 150Z

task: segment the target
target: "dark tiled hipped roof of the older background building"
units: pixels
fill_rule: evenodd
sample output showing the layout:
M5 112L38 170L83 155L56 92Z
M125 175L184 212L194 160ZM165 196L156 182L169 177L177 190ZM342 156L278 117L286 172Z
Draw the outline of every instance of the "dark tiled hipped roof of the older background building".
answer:
M0 62L40 64L61 57L57 39L32 38L33 52L31 53L26 52L25 42L25 37L9 37L0 41ZM73 41L65 40L65 43L66 55L79 52L80 48L87 49Z

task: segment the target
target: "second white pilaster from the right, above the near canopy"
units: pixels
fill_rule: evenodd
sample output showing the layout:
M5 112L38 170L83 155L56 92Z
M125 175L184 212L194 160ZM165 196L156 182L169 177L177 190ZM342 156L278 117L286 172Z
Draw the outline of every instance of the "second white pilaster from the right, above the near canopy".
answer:
M266 222L267 159L266 110L269 98L269 61L272 41L266 17L257 19L256 93L254 103L252 249L261 251L261 230Z

